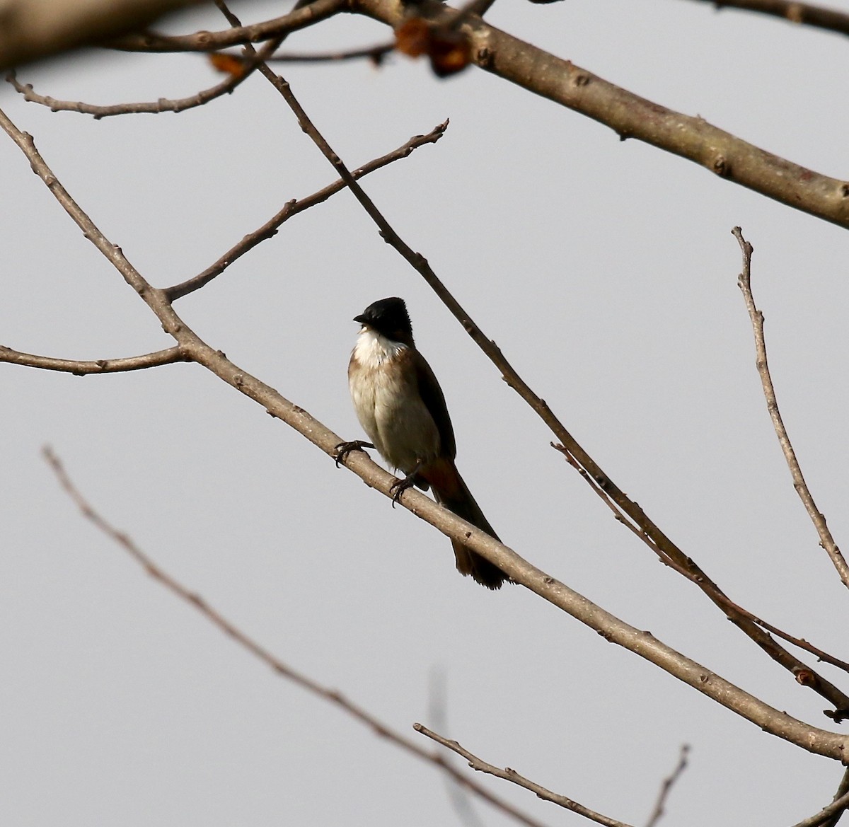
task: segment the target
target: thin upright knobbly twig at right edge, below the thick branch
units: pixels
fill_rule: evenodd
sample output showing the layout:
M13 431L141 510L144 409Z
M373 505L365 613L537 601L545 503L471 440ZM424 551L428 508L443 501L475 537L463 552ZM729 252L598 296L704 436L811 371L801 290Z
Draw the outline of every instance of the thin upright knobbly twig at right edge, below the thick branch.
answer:
M779 402L775 396L775 387L773 379L769 374L769 363L767 363L767 342L763 335L763 313L757 309L755 297L751 292L751 254L752 246L743 238L743 233L739 227L735 227L732 231L734 238L740 245L740 250L743 252L743 271L739 274L737 284L743 292L746 310L749 311L751 319L751 327L755 334L755 352L756 352L756 368L757 373L761 377L761 385L763 387L763 395L767 400L767 410L769 418L773 420L773 428L775 435L779 438L781 451L784 453L784 459L787 466L790 468L790 476L793 478L793 487L796 488L796 493L799 495L802 504L805 506L808 516L811 518L814 528L819 535L819 544L825 549L826 554L831 558L841 581L846 588L849 588L849 565L846 565L846 560L841 554L841 550L837 548L835 538L829 532L829 526L826 525L825 516L817 508L814 503L810 489L807 487L804 475L801 473L801 466L796 459L796 451L793 450L793 445L790 442L790 436L787 429L784 427L784 422L781 419L779 411Z

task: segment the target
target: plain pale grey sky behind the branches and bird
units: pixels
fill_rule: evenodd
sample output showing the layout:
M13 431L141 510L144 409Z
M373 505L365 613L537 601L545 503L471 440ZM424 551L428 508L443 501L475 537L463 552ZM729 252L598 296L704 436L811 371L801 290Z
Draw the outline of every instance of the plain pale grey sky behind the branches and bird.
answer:
M281 13L276 3L238 10ZM490 20L763 149L849 175L845 38L684 0L503 0ZM214 10L168 23L223 25ZM345 16L289 47L386 36ZM838 543L849 534L846 232L479 70L440 82L423 62L392 58L380 70L284 74L351 167L451 118L436 146L368 177L367 192L604 470L733 599L846 658L846 590L767 418L730 230L739 224L755 246L779 403ZM106 104L179 97L219 78L193 56L85 52L20 79ZM94 121L25 104L11 87L0 106L160 286L335 178L259 76L180 115ZM0 342L72 358L170 344L8 138L0 189ZM290 220L177 310L353 439L351 318L387 295L408 301L453 416L458 466L505 543L773 706L832 728L823 700L611 518L350 194ZM684 742L690 765L666 824L793 824L836 789L835 763L762 734L524 588L491 594L459 577L447 539L200 367L0 374L3 824L459 823L435 768L276 677L145 577L59 491L45 443L167 571L404 733L429 723L436 674L445 734L634 824ZM582 823L482 780L546 824ZM486 824L508 823L474 806Z

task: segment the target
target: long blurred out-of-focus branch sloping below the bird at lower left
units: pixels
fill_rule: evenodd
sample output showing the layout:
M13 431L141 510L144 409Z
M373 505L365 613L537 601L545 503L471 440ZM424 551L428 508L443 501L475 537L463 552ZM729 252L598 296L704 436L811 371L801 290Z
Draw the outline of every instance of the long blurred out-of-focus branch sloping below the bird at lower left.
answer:
M267 650L264 646L257 643L255 639L243 632L242 629L236 626L235 623L228 620L228 618L223 616L221 612L214 609L200 596L200 594L193 592L176 578L171 577L171 575L161 569L159 565L156 565L153 558L143 552L143 550L132 541L131 537L129 537L125 532L121 532L119 529L115 528L115 526L113 526L108 520L105 520L104 517L99 515L87 499L82 496L79 489L77 489L73 482L70 481L70 477L65 471L64 465L59 460L59 457L53 453L53 450L50 447L44 447L42 453L44 454L44 459L47 460L48 464L53 469L53 473L59 480L59 485L65 489L65 492L74 504L76 504L76 507L80 509L82 515L87 520L90 520L99 531L104 532L107 537L114 540L115 543L117 543L121 549L124 549L124 551L126 551L127 554L129 554L132 559L138 563L138 565L141 565L144 571L149 574L150 577L153 577L156 582L160 583L161 586L164 586L169 592L171 592L171 594L175 594L179 599L200 611L200 614L208 621L221 629L223 633L227 634L228 637L233 639L243 649L249 651L251 655L254 655L268 667L271 667L281 678L286 678L293 684L300 686L301 689L306 689L306 691L312 693L312 695L317 695L319 698L328 701L334 706L338 706L341 710L347 712L348 715L356 718L360 723L365 724L374 732L374 734L380 735L381 738L385 738L391 744L400 747L402 750L407 751L422 761L436 764L436 767L440 768L443 773L450 775L455 781L457 781L458 784L464 785L464 787L468 790L471 790L476 795L481 796L481 798L485 801L490 802L503 813L507 813L509 816L512 816L521 824L527 824L528 827L542 827L542 825L535 819L531 819L529 816L526 816L525 813L521 813L520 810L517 810L508 802L504 802L497 796L493 796L489 790L481 787L481 785L478 785L475 781L466 778L464 774L454 769L436 752L423 750L415 743L415 741L405 738L402 734L397 733L394 729L391 729L390 726L383 723L380 718L372 715L371 712L367 712L362 706L357 706L357 704L348 700L338 689L329 689L329 687L319 684L318 681L315 681L312 678L307 678L306 675L301 672L297 672L278 658L277 655L273 655L270 650Z

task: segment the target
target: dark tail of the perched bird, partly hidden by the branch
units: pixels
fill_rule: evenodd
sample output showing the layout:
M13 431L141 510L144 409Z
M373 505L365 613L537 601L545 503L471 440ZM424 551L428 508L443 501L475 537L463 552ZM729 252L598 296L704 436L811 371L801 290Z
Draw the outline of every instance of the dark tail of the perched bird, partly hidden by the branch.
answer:
M498 534L490 526L489 520L481 511L481 506L475 503L475 498L472 497L453 462L441 460L430 464L422 475L433 488L437 503L441 503L458 517L462 517L473 526L480 528L482 532L498 540ZM509 580L509 577L497 565L481 557L468 546L458 543L457 540L452 540L451 544L454 548L454 556L457 558L457 571L460 574L470 574L475 582L479 582L486 588L501 588L501 584Z

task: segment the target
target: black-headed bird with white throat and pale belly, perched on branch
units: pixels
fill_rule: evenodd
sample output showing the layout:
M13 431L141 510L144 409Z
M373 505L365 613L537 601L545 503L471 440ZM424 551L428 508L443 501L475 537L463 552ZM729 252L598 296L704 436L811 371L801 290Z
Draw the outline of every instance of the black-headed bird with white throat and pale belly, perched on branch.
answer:
M357 419L371 442L341 442L337 463L351 450L376 448L406 475L392 487L395 501L413 485L432 488L437 503L498 540L454 464L457 443L445 396L416 349L407 305L397 296L380 299L354 321L361 327L348 363L348 385ZM509 582L497 565L464 543L451 544L462 575L492 589Z

